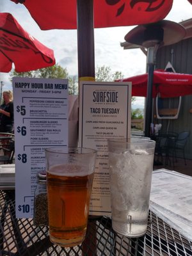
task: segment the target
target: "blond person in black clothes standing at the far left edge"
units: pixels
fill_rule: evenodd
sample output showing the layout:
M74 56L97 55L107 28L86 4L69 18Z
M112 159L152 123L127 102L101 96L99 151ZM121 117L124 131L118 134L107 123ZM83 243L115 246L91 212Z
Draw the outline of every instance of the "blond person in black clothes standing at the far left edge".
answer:
M3 92L3 104L0 106L0 132L13 132L13 93Z

